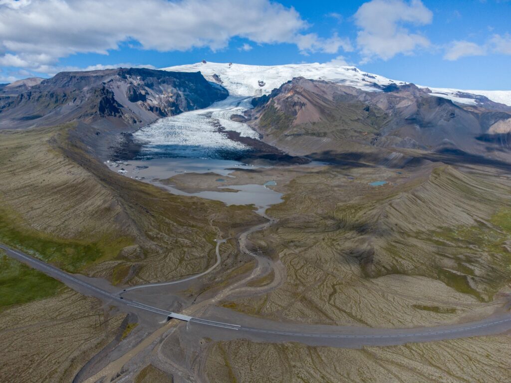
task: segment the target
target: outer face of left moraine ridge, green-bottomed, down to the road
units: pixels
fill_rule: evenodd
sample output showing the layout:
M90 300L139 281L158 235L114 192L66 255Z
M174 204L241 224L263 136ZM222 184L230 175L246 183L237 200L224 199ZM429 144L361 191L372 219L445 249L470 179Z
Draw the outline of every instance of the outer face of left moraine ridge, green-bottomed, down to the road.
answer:
M2 131L0 241L76 272L134 240L119 204L54 147L71 126Z

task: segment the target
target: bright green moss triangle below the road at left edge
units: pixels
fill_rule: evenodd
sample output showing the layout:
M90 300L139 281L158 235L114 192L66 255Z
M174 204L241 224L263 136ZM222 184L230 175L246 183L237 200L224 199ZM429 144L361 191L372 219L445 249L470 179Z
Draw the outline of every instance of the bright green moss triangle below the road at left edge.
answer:
M0 254L0 311L16 304L51 297L63 284Z

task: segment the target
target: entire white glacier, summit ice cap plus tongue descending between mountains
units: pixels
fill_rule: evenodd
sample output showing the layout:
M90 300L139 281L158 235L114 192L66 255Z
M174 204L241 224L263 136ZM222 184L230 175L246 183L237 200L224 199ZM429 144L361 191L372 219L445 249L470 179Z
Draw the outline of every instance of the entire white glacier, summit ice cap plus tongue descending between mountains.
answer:
M241 136L259 138L247 124L232 121L233 114L243 114L251 108L250 100L269 94L295 77L331 81L353 86L366 91L380 91L374 84L404 85L403 81L366 73L355 66L333 63L288 64L288 65L244 65L233 63L199 62L162 68L178 72L198 72L213 84L229 91L229 97L212 106L162 118L156 123L134 133L135 139L143 143L139 158L192 157L232 159L250 148L233 141L223 131L235 131ZM472 95L483 95L488 99L511 106L511 91L459 90L451 88L429 88L430 94L449 99L458 104L477 105ZM468 94L469 93L469 94Z

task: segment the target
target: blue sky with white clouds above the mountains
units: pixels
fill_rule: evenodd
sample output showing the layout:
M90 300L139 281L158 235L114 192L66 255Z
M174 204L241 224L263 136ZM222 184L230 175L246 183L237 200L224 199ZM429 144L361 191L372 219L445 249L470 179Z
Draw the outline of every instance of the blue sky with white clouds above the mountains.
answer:
M0 0L0 82L201 60L511 89L511 0Z

